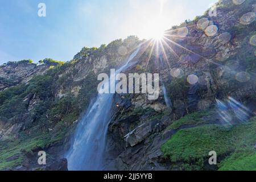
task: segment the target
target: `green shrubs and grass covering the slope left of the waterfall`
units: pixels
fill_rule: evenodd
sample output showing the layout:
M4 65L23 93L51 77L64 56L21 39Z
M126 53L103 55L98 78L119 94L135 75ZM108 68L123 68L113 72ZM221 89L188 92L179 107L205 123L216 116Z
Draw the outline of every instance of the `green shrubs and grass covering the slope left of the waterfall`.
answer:
M27 84L0 92L1 121L12 124L23 121L26 127L19 131L18 138L9 137L0 142L0 170L19 166L26 152L47 148L67 137L72 131L72 123L96 93L98 83L94 74L77 83L71 81L77 73L73 62L44 59L40 64L51 65L52 69L45 75L34 76ZM70 69L68 73L65 72L67 68ZM81 88L76 94L72 93L75 84ZM60 88L65 94L58 98L56 93Z

